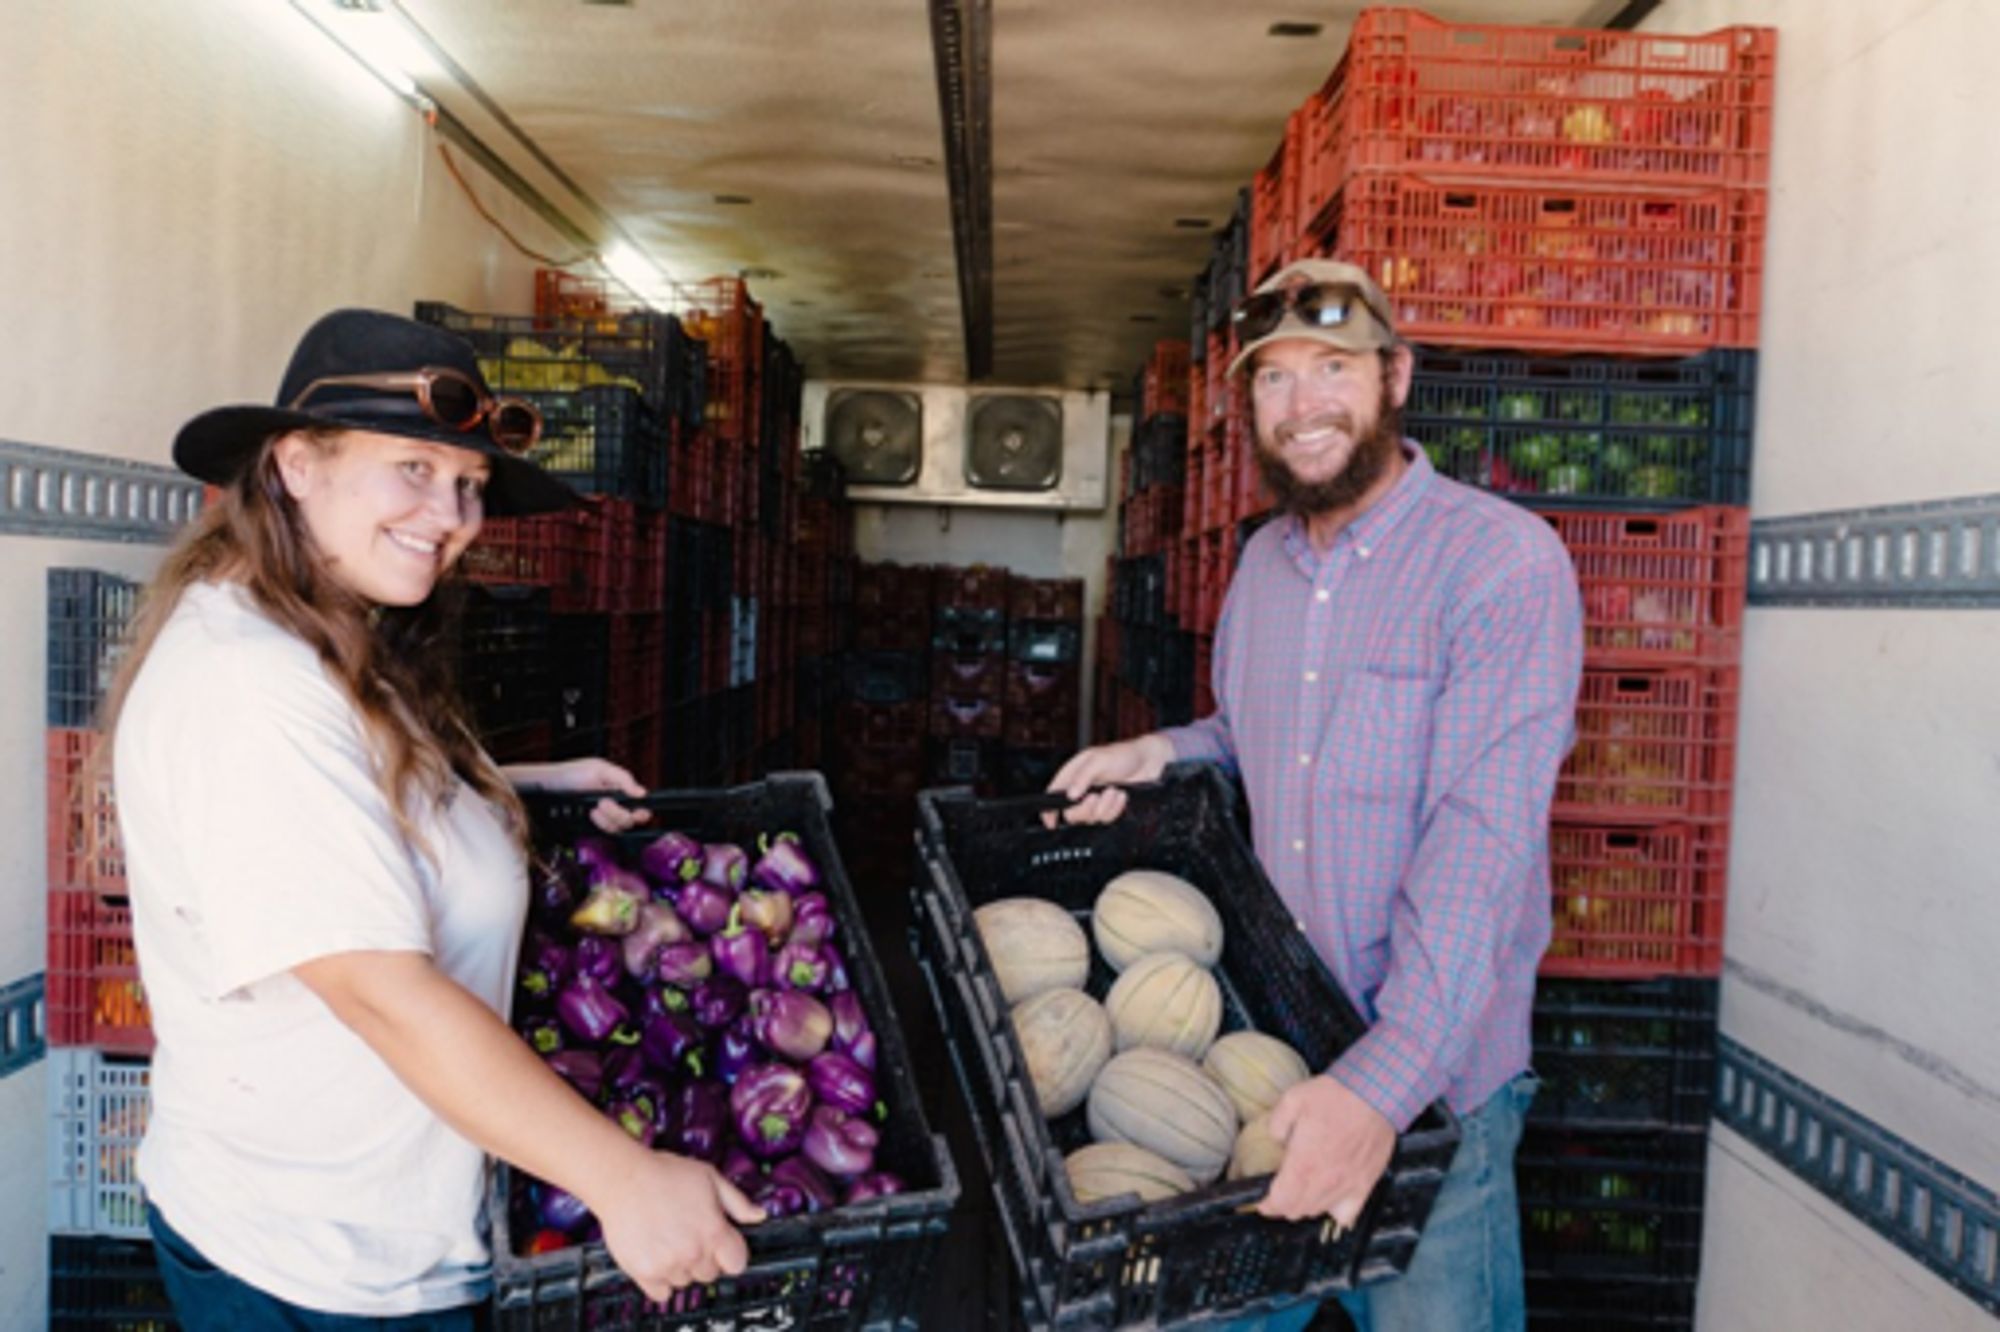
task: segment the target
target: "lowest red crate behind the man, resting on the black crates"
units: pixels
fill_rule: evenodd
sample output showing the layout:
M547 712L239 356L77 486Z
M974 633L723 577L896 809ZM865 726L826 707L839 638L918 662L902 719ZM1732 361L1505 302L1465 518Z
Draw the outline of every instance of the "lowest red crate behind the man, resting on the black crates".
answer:
M1554 938L1544 976L1648 980L1722 974L1728 822L1556 820L1548 834Z

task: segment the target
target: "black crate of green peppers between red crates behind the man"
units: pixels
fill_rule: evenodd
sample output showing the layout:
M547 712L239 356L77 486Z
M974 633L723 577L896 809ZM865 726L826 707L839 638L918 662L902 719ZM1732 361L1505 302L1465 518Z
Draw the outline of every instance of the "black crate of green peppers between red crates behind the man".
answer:
M1418 348L1404 428L1432 464L1546 508L1750 502L1756 352L1682 360Z

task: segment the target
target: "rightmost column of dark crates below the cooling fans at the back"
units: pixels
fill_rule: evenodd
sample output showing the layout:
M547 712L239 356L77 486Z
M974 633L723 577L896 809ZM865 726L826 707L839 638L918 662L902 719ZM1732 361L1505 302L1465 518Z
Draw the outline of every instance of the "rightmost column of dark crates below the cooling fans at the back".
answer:
M1076 752L1084 692L1084 580L1008 580L1000 794L1048 786Z

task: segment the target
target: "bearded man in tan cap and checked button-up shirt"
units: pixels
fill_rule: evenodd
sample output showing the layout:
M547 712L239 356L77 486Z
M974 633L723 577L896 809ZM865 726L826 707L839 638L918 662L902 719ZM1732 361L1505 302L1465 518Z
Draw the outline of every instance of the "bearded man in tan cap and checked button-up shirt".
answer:
M1550 936L1548 804L1582 606L1546 522L1402 438L1410 348L1366 272L1304 260L1236 310L1278 516L1216 628L1216 712L1084 750L1050 782L1108 820L1172 760L1240 772L1258 858L1370 1022L1272 1110L1266 1216L1354 1224L1396 1134L1444 1098L1464 1140L1404 1278L1342 1298L1362 1332L1524 1322L1514 1148ZM1310 1308L1262 1324L1298 1328Z

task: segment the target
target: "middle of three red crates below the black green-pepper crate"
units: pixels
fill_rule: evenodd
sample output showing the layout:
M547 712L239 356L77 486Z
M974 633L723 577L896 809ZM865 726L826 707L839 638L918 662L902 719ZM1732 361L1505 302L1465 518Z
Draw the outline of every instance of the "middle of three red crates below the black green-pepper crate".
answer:
M1586 670L1558 818L1728 818L1738 672Z

